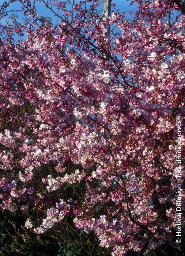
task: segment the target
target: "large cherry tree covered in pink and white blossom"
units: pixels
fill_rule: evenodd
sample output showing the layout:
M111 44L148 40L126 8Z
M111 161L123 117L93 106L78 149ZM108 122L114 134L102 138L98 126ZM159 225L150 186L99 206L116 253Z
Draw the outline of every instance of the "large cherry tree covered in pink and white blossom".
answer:
M107 19L98 0L2 4L0 208L24 211L36 233L71 216L113 256L155 248L180 255L184 5L134 2L129 18L112 5ZM28 214L38 209L39 221Z

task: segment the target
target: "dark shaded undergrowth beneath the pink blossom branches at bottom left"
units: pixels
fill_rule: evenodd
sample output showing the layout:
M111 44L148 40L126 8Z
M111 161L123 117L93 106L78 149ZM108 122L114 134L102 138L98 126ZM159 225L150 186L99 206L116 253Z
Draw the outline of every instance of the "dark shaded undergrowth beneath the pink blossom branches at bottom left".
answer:
M24 227L22 213L0 211L0 256L110 256L108 250L98 245L93 233L75 228L71 218L66 218L55 229L36 235Z

